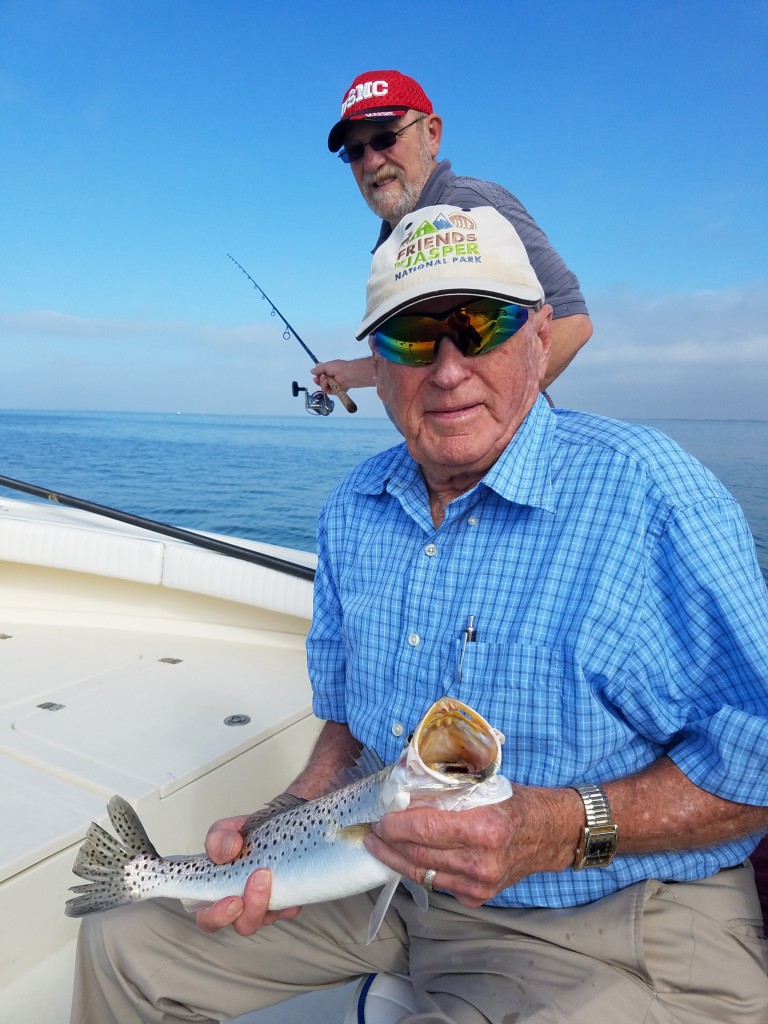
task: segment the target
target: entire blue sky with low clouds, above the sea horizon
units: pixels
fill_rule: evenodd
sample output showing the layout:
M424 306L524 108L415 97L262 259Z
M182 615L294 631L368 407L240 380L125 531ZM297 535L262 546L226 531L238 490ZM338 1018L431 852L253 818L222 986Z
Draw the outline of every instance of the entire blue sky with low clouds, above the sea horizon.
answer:
M360 353L377 227L326 138L398 68L580 278L558 403L768 419L767 30L764 0L0 0L0 408L298 413L309 360L226 254Z

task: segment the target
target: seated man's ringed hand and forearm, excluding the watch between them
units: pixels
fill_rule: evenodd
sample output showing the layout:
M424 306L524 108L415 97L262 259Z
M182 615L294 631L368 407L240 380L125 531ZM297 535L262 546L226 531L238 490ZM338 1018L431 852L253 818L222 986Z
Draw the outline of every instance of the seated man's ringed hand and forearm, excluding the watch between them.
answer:
M621 854L715 846L768 827L768 807L716 797L666 756L602 785L622 829ZM514 785L509 800L490 807L387 814L365 843L400 874L423 883L432 868L435 889L479 906L528 874L572 864L585 823L574 790Z

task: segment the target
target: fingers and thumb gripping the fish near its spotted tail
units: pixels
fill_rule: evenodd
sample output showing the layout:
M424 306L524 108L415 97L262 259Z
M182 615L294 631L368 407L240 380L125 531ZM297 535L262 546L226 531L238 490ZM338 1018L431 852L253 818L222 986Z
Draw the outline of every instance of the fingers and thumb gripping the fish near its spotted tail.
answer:
M206 836L206 853L216 864L228 864L234 860L243 848L240 829L249 815L215 821ZM205 910L198 911L198 927L203 932L217 932L229 925L239 935L253 935L265 925L281 919L291 920L299 910L298 906L286 910L268 910L272 876L268 868L254 871L246 883L242 896L225 896Z

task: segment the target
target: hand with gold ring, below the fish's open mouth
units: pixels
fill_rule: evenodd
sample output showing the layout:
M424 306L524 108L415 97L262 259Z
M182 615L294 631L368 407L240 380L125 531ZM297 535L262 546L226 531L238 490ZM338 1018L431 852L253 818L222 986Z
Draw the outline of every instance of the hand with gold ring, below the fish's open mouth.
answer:
M567 867L582 819L572 790L516 786L513 797L489 807L387 814L366 846L418 883L431 867L435 889L453 893L465 906L480 906L527 874Z

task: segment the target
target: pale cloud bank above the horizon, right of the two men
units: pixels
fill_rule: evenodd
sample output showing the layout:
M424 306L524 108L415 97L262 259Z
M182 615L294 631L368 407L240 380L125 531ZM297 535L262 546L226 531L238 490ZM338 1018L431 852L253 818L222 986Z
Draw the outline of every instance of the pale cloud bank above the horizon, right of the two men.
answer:
M595 333L558 404L625 419L768 419L768 289L590 296Z

